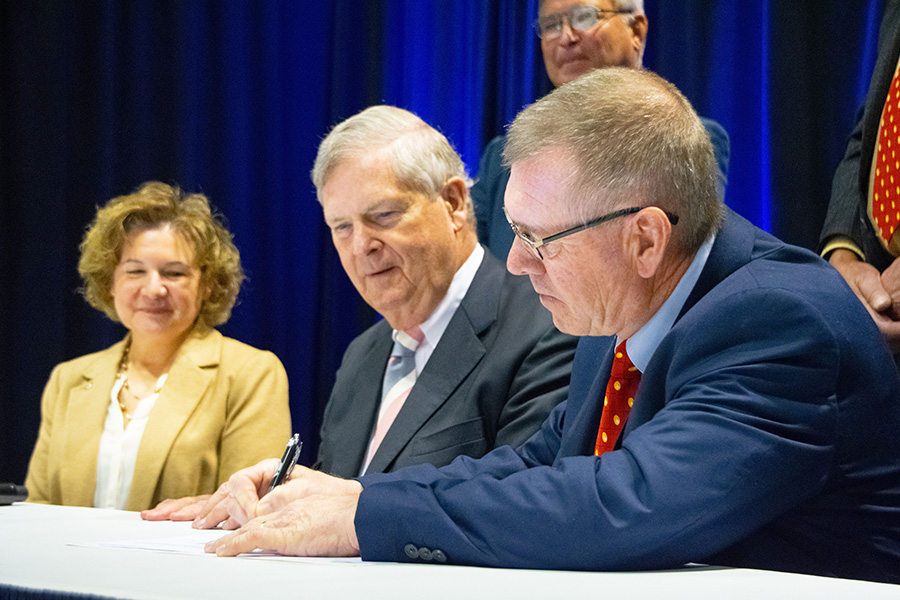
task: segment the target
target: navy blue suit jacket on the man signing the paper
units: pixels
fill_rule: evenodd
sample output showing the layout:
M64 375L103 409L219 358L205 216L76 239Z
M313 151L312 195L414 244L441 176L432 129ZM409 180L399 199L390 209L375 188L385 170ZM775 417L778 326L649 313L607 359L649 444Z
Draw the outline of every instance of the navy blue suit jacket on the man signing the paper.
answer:
M597 458L612 345L518 449L361 478L362 557L900 581L900 377L834 269L728 211Z

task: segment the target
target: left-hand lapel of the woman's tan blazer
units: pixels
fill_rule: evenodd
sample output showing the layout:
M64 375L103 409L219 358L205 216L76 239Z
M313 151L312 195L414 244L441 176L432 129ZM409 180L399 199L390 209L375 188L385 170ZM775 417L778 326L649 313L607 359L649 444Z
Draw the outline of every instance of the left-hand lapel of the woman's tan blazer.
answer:
M81 385L70 392L65 420L66 463L60 474L63 504L94 505L100 437L124 347L123 340L98 354L84 369Z

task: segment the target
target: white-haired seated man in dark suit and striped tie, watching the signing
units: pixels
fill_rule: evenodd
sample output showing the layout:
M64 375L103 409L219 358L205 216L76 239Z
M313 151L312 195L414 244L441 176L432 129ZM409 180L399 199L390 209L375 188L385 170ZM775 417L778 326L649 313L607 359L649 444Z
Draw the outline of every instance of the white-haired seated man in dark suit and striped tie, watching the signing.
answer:
M565 400L576 338L479 245L447 139L410 112L372 107L322 141L312 175L344 270L384 317L344 354L315 468L443 466L527 440ZM191 519L207 499L143 516Z

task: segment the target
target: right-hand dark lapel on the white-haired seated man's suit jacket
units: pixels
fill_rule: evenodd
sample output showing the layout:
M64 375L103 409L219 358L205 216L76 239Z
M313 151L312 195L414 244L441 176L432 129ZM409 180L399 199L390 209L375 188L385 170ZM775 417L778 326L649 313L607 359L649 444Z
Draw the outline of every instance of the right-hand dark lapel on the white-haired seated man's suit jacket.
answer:
M472 284L372 457L367 473L389 469L416 432L481 361L486 350L479 336L497 320L503 274L502 263L485 252Z

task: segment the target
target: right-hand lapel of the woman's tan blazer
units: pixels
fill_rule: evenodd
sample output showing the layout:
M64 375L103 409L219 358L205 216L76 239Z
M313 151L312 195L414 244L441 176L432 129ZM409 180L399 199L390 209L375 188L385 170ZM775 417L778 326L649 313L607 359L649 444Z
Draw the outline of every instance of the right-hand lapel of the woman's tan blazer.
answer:
M141 437L128 507L149 506L169 452L215 378L222 334L200 329L185 340Z

